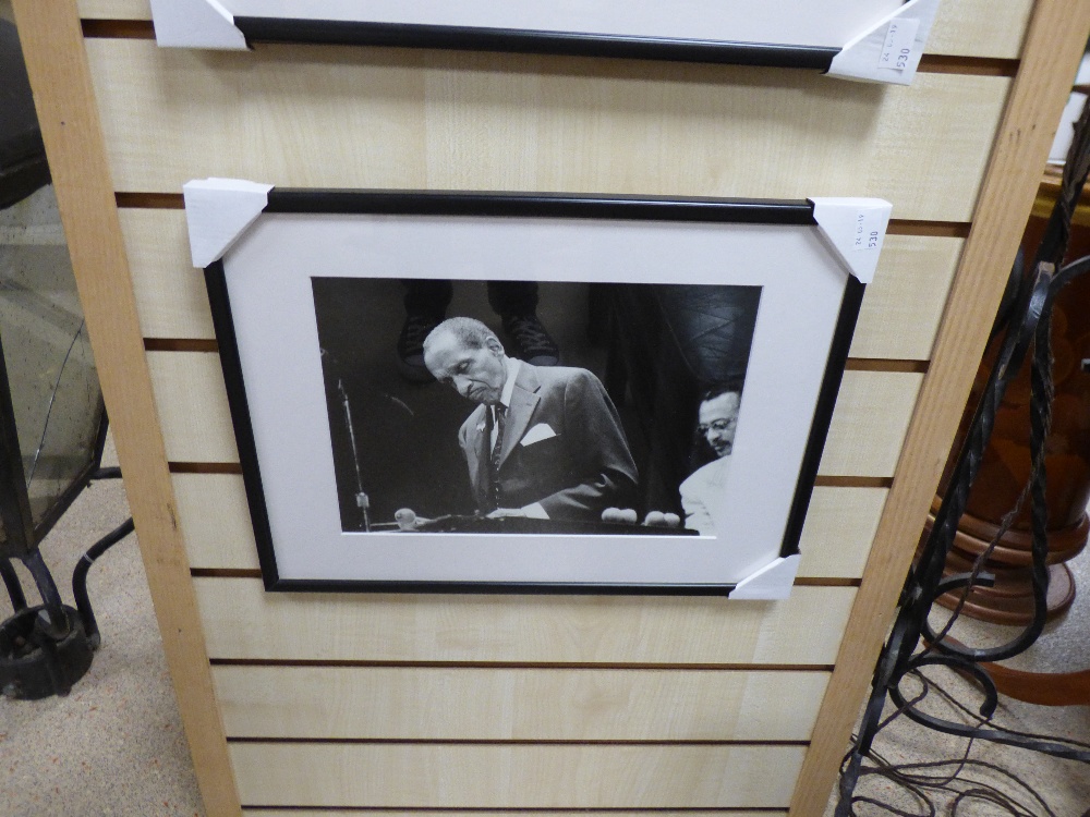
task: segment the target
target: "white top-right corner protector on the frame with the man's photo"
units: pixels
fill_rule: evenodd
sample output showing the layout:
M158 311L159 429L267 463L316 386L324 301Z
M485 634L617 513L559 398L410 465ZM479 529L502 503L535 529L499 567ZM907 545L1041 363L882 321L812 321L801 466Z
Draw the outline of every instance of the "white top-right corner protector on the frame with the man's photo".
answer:
M874 280L893 205L881 198L811 198L822 237L862 283Z

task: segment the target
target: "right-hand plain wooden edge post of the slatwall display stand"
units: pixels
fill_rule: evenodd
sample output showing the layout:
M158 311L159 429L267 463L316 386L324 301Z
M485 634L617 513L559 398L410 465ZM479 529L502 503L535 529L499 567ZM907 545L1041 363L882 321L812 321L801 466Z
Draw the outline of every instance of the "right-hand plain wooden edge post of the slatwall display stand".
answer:
M969 237L946 302L863 582L791 798L789 817L821 817L928 508L957 430L995 309L1029 218L1054 127L1086 49L1090 0L1039 0L996 132Z

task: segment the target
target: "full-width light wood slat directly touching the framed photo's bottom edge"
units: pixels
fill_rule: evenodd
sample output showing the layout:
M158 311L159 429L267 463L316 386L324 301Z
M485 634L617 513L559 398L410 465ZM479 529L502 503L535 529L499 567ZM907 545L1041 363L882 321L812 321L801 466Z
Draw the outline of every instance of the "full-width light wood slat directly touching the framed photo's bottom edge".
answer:
M317 661L828 666L856 596L853 587L729 601L266 593L254 578L193 583L209 657Z

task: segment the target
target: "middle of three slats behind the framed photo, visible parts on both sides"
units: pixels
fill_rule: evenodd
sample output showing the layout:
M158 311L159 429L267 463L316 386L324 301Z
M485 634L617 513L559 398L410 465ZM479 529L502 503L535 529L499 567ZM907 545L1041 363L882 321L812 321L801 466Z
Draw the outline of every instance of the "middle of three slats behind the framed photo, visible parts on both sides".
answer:
M219 355L148 352L156 403L171 462L237 463ZM921 375L846 371L821 474L893 474Z

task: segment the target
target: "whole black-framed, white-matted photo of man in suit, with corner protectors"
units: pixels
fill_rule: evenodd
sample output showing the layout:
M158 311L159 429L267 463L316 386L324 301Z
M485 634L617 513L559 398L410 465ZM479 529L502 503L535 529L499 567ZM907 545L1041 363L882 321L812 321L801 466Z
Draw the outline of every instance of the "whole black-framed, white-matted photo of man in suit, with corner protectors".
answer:
M887 203L185 204L268 589L789 593Z

